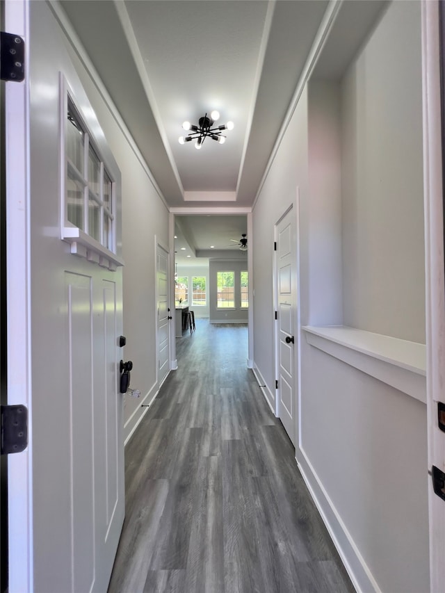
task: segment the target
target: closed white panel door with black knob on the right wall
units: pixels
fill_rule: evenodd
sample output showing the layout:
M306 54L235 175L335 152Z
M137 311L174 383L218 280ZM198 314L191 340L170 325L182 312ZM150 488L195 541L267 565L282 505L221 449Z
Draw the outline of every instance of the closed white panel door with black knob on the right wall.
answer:
M295 444L298 360L295 211L289 209L275 225L275 299L277 352L276 414Z

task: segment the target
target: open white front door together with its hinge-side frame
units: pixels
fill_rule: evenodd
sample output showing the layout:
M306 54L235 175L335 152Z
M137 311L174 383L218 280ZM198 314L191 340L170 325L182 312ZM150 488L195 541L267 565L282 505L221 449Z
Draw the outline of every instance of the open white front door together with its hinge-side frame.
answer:
M8 460L9 591L104 592L124 518L122 268L96 245L120 245L120 173L48 4L7 0L6 29L29 56L6 86L8 403L29 408L29 446ZM95 132L79 146L97 138L103 161L86 150L65 169L60 73ZM87 245L61 238L79 204Z

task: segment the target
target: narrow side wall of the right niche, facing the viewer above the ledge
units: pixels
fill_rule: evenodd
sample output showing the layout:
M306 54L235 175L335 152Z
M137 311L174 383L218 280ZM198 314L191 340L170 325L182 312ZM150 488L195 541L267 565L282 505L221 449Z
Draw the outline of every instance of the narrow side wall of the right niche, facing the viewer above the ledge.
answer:
M310 82L307 99L309 200L301 228L309 259L302 325L341 325L341 153L339 86Z

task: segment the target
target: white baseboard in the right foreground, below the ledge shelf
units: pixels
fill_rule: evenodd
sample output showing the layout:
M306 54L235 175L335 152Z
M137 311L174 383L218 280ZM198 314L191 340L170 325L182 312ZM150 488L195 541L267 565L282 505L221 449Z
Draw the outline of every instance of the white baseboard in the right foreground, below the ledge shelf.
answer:
M330 534L334 546L340 555L346 571L352 581L357 593L373 591L382 593L376 583L369 567L355 545L353 537L350 535L343 523L337 509L334 507L328 496L316 471L309 462L307 455L301 448L296 450L296 461L298 469L302 475L305 484L314 500L318 512L325 523L327 531Z

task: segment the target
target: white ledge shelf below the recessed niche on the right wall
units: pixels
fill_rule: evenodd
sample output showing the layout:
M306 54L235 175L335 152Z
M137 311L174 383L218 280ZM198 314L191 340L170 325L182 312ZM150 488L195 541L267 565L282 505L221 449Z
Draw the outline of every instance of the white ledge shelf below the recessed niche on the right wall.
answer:
M302 330L311 346L426 403L425 344L346 325L306 325Z

